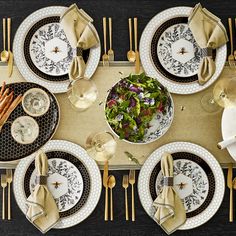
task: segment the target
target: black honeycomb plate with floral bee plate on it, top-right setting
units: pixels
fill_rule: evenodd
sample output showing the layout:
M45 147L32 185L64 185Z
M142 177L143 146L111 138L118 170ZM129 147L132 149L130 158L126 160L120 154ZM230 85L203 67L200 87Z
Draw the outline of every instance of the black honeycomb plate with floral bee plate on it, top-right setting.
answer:
M188 27L187 17L175 17L158 27L151 41L151 58L156 69L178 83L198 80L203 51Z

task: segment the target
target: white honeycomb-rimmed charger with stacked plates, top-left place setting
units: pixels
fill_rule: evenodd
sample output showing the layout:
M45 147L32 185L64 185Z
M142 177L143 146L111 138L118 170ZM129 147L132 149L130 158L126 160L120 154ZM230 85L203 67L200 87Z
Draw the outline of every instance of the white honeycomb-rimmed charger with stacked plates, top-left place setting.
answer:
M46 7L29 15L19 26L13 43L16 65L23 77L53 93L67 91L68 71L76 54L60 26L67 7ZM92 25L94 28L94 26ZM96 32L96 29L94 28ZM23 41L23 43L22 43ZM85 77L91 78L100 60L100 43L83 51Z

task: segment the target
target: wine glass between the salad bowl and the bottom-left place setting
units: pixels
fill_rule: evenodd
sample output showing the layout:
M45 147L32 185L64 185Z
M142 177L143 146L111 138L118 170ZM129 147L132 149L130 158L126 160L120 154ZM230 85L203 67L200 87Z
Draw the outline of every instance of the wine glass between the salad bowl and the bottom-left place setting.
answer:
M117 143L110 132L99 132L89 135L85 147L94 160L103 162L115 155Z

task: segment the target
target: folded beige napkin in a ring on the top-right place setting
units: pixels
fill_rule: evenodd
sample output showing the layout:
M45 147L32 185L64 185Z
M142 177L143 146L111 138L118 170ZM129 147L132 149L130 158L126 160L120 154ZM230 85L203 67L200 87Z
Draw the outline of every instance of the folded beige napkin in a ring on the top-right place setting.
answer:
M216 49L228 41L228 36L221 20L197 4L189 18L189 27L198 45L204 49L199 71L198 81L200 84L206 83L215 73L216 65L212 58L212 49Z

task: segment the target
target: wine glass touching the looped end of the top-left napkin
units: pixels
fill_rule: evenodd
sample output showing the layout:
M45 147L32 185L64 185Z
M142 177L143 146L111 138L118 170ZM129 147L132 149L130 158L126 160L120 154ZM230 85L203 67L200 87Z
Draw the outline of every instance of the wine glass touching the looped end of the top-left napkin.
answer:
M84 111L97 100L98 91L91 80L84 78L73 81L67 91L67 95L75 110Z

